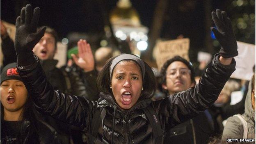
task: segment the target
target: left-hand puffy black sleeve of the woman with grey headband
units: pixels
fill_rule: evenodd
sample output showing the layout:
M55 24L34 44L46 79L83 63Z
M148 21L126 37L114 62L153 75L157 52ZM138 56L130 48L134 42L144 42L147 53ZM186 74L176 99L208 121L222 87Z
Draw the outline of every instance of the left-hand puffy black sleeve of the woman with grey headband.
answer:
M36 109L59 121L78 126L85 131L88 130L91 114L94 114L98 103L54 90L46 79L38 57L35 55L34 57L33 64L21 66L18 63L17 69L27 91L32 96Z

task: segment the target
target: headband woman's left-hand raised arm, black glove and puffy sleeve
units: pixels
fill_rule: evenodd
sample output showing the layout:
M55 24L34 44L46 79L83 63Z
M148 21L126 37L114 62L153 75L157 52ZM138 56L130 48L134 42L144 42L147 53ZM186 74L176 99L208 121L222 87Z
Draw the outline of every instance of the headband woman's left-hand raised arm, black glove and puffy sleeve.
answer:
M15 49L18 55L18 72L37 110L86 130L90 114L97 103L54 90L46 79L38 57L33 55L32 49L45 31L45 27L37 31L39 11L38 7L35 8L32 16L32 8L28 4L22 8L21 16L16 20Z

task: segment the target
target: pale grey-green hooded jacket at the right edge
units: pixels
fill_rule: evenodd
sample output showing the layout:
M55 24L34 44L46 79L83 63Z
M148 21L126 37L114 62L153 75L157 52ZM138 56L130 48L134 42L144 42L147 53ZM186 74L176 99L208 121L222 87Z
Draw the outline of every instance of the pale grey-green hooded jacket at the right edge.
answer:
M245 113L242 114L247 121L248 135L247 138L255 139L255 110L251 105L251 81L249 83L248 92L245 99ZM243 138L244 129L242 121L238 117L229 117L223 130L222 141L226 139L241 139ZM254 144L254 142L253 142Z

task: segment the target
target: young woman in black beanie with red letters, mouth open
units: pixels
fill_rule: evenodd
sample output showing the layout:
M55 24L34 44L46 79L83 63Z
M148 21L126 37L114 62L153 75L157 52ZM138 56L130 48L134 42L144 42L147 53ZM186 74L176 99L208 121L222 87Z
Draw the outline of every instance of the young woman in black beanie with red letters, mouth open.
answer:
M16 63L5 66L1 73L1 144L61 144L64 140L69 139L35 111Z

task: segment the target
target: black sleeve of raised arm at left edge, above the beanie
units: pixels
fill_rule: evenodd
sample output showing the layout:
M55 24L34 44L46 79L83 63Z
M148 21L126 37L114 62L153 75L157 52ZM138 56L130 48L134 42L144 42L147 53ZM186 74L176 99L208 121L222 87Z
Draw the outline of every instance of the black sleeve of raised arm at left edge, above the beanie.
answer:
M2 38L2 53L3 53L3 66L6 66L7 64L17 62L17 55L14 48L14 42L11 40L11 38L7 35Z

